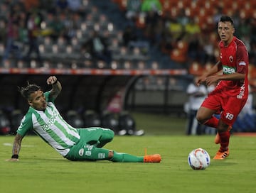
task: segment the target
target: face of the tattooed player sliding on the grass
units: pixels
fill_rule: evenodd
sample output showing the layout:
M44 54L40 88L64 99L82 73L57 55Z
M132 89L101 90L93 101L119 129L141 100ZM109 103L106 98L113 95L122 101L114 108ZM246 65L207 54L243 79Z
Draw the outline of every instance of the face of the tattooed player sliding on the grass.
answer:
M38 90L30 95L28 104L38 111L46 110L46 96L41 90Z

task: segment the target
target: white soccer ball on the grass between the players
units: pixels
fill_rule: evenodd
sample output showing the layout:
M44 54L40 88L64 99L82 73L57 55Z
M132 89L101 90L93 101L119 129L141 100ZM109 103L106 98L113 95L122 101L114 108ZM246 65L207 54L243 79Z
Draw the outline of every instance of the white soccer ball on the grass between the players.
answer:
M188 155L188 165L193 170L205 170L210 165L210 155L202 148L194 149Z

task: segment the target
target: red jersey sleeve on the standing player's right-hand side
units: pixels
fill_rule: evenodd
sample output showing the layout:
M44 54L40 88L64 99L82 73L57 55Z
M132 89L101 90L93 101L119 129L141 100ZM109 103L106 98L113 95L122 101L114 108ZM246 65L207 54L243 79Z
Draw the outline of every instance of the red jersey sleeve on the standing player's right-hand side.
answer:
M237 72L246 74L247 72L247 66L248 66L248 53L245 45L238 46L237 51Z

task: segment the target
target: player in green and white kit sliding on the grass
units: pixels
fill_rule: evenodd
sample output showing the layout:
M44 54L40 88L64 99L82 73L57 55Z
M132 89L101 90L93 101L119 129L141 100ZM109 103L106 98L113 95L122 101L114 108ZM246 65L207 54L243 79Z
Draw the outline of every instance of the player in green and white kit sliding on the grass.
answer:
M28 101L29 109L18 127L9 161L18 161L21 140L31 129L68 160L161 161L159 154L134 156L102 148L114 138L114 132L109 128L73 128L70 126L60 116L54 104L62 89L60 82L55 76L48 77L46 82L52 85L52 89L45 93L36 84L28 83L26 87L20 89L21 95Z

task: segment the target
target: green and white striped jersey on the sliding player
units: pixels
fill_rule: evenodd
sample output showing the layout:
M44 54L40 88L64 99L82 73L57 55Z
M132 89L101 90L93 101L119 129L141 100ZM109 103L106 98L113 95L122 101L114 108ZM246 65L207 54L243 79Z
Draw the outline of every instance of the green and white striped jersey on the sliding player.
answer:
M70 148L80 140L80 136L76 128L70 126L54 105L53 99L49 99L49 93L46 92L47 107L45 111L37 111L33 107L29 107L28 112L21 121L17 133L25 136L26 133L33 129L43 140L60 153L60 155L68 154Z

